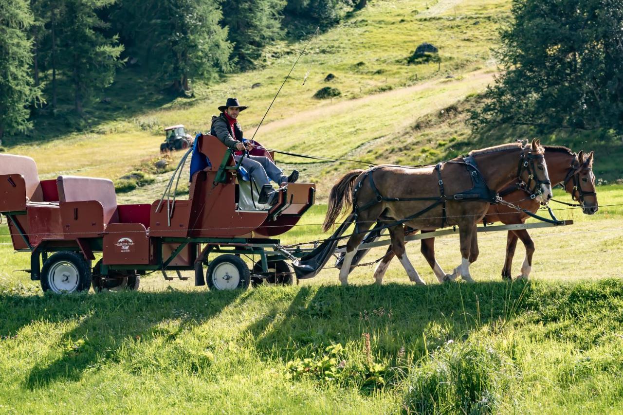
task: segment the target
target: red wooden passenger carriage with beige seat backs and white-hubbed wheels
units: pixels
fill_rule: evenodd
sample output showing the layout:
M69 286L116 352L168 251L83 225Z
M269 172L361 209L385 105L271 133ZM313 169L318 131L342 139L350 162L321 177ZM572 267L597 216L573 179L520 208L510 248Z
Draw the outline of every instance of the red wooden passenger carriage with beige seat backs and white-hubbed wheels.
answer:
M40 180L32 158L0 154L0 213L14 249L31 253L31 279L56 293L91 285L136 289L141 275L187 279L182 270L194 270L195 285L207 280L217 290L292 284L286 260L302 250L285 250L275 237L313 205L315 184L288 183L278 189L276 204L260 205L254 184L239 178L231 151L214 136L196 141L207 166L191 177L188 199L169 192L151 204L117 204L108 179ZM102 258L93 265L97 252ZM259 258L251 270L242 254Z

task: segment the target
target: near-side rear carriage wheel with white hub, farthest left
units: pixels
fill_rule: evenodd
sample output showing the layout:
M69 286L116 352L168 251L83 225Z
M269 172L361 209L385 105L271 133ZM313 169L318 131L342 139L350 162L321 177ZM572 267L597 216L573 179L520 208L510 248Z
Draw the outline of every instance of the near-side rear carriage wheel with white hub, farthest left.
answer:
M57 294L80 292L91 286L91 267L79 252L64 250L47 259L41 269L41 289Z

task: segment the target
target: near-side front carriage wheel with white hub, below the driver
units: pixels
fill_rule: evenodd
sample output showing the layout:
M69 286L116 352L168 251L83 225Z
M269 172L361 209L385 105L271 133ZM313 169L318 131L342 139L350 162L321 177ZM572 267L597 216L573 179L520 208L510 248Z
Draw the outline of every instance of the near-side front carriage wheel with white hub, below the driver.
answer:
M246 290L249 288L251 273L240 257L226 254L210 262L206 280L211 290Z

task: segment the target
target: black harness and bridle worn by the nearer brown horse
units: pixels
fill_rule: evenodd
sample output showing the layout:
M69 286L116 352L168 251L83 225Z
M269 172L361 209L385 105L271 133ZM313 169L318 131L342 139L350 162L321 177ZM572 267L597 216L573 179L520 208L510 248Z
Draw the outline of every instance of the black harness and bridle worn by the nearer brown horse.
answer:
M538 186L541 183L549 183L549 181L540 181L540 180L535 179L533 160L537 158L543 158L543 157L544 157L543 155L533 155L530 153L528 155L525 155L522 153L520 156L519 165L517 167L517 177L521 177L521 173L523 173L523 170L527 169L529 181L530 180L535 181L535 188L538 188ZM445 194L444 181L441 177L441 168L445 163L454 163L454 164L464 165L465 169L467 169L467 173L469 174L470 179L472 179L472 188L466 191L462 191L460 193L453 194L451 196ZM365 211L366 209L369 209L370 207L374 206L377 203L432 201L432 204L425 207L421 211L418 211L412 214L411 216L406 217L405 219L396 221L386 227L393 227L393 226L402 224L404 222L411 221L412 219L416 219L417 217L422 216L426 212L430 211L431 209L434 209L434 207L437 207L439 205L442 205L441 227L445 227L447 225L445 203L448 200L478 201L478 202L488 202L492 204L497 204L500 201L500 197L498 193L493 191L487 186L485 178L482 176L482 173L480 173L480 169L478 169L478 164L476 163L476 160L473 158L473 156L463 157L461 161L459 160L445 161L442 163L437 163L437 165L435 165L435 171L437 172L437 179L438 179L437 184L439 184L439 196L438 197L433 196L433 197L428 197L428 198L388 198L387 196L383 196L383 194L379 192L379 189L376 187L376 184L374 183L373 175L374 175L374 171L378 169L383 169L386 167L397 167L397 166L379 166L379 167L374 167L374 168L369 169L364 174L364 178L361 179L361 181L359 181L359 184L353 189L353 209L354 209L354 220L355 221L357 220L357 217L359 216L359 212ZM370 185L370 188L373 189L374 193L376 193L376 199L369 201L368 203L364 204L361 207L358 207L357 206L357 191L361 189L361 186L363 182L365 181L366 177L368 178L368 183ZM355 231L358 232L357 222L355 226L356 226Z

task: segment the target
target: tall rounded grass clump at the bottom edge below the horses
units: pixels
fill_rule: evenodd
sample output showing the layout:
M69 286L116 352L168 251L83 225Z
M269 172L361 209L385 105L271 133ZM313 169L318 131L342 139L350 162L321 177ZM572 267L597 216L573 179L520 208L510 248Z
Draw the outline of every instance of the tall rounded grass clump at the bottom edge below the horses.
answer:
M514 366L490 346L442 346L409 378L403 408L409 413L493 413L508 388Z

